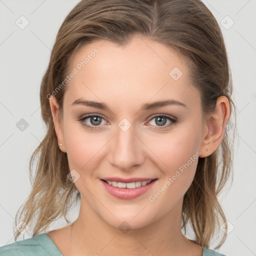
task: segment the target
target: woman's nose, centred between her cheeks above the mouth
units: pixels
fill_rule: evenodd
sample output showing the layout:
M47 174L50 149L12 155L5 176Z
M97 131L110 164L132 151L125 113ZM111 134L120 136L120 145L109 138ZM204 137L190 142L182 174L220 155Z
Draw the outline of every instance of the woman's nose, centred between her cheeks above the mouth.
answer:
M108 160L118 169L127 171L144 162L144 149L145 145L134 133L133 126L126 131L117 126L116 134L111 139Z

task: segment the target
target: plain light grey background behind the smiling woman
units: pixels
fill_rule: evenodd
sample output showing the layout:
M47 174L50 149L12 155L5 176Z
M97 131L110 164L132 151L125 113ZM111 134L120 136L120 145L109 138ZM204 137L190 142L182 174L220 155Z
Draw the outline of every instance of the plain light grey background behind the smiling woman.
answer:
M57 30L77 2L0 0L0 246L14 242L13 219L31 190L29 157L45 132L40 81ZM203 2L223 32L237 107L234 180L220 197L229 231L218 251L227 256L256 255L256 0ZM24 29L15 23L21 15L29 21ZM18 127L22 118L28 125L23 131ZM77 213L76 205L71 221ZM51 228L64 224L58 221Z

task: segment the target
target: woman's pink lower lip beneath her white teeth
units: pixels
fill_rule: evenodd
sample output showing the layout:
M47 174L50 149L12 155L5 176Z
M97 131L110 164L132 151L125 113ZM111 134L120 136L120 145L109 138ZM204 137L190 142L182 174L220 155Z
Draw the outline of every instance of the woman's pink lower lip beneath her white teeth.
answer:
M109 192L111 195L120 198L120 199L133 199L146 191L148 191L152 185L156 182L157 179L154 179L150 183L140 186L140 187L135 187L135 188L121 188L121 187L115 187L112 185L107 184L105 181L100 179L102 182L103 186L105 187L106 191Z

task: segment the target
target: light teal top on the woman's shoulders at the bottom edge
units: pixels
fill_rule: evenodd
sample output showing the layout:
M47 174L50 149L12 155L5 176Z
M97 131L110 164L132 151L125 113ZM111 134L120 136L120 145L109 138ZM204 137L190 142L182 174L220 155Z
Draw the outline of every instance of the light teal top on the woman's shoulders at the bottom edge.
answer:
M0 247L0 256L63 256L46 233ZM225 256L202 246L201 256Z

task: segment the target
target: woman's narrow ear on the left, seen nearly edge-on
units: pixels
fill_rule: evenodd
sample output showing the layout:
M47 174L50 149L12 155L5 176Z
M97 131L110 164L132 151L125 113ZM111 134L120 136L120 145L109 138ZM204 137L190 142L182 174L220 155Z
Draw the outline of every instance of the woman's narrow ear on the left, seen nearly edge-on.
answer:
M51 95L51 98L49 99L49 104L50 104L51 115L53 118L54 129L55 129L57 140L58 140L58 146L59 146L59 149L65 153L66 148L64 143L62 123L59 117L59 105L57 103L55 96ZM59 145L60 143L62 144L62 146Z

